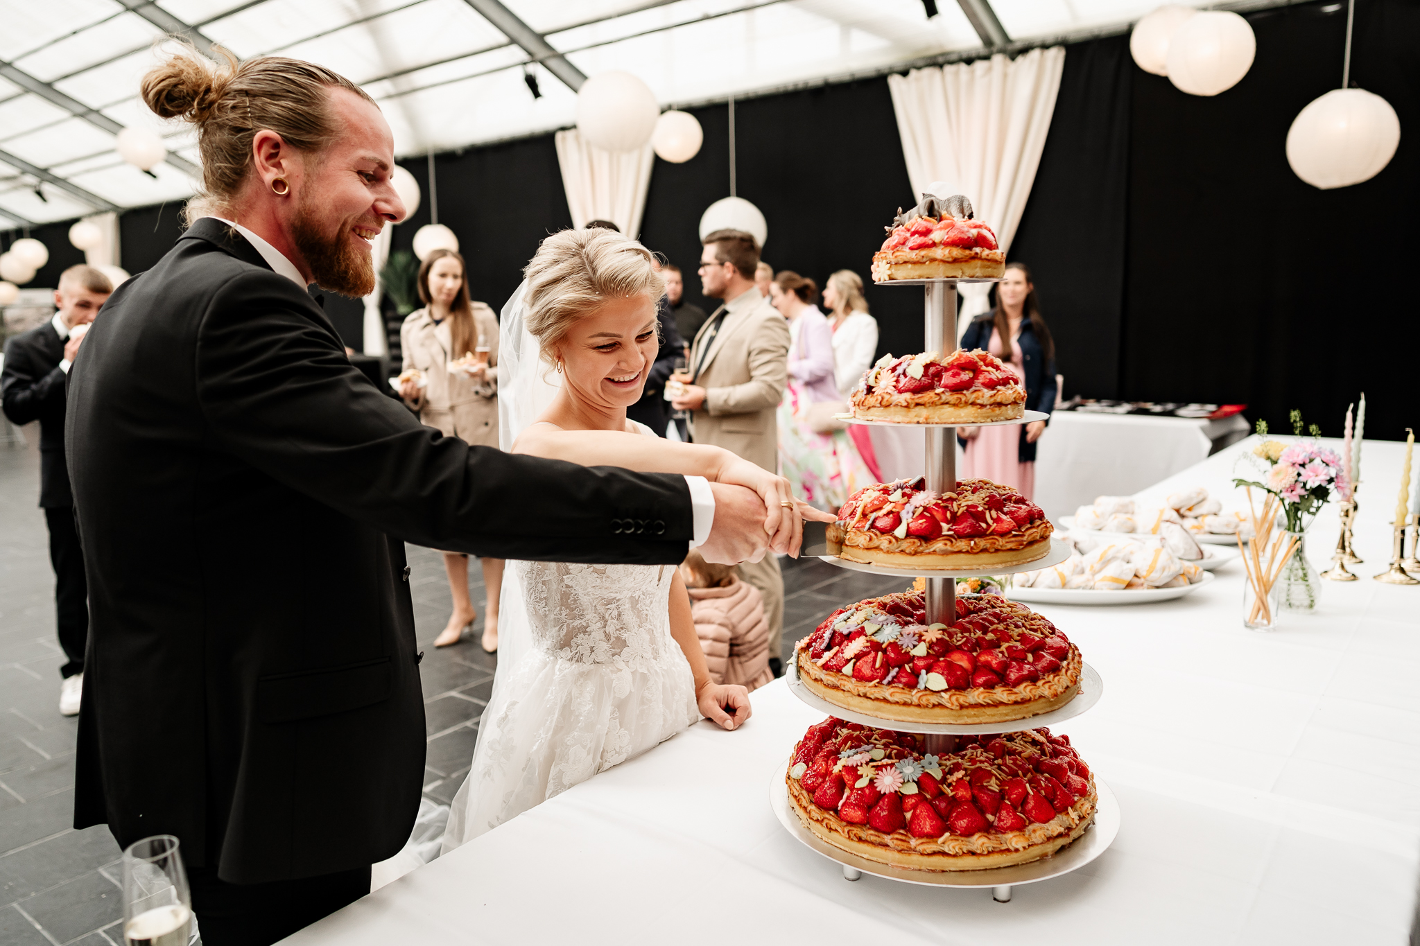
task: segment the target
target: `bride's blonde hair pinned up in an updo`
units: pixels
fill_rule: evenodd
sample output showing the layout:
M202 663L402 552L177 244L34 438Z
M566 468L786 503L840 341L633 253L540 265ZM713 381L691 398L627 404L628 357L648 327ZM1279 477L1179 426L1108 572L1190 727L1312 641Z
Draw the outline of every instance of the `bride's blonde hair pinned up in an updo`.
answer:
M650 250L611 230L552 234L523 275L528 281L527 329L548 363L555 363L552 349L572 323L608 301L645 295L655 305L666 294Z

